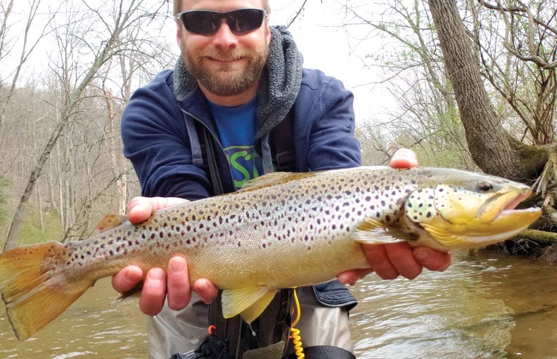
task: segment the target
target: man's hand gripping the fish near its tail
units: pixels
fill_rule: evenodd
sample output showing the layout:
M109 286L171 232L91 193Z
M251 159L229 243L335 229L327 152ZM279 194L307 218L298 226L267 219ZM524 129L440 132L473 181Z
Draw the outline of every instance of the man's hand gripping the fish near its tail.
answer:
M148 219L155 210L187 201L181 198L135 197L128 205L128 217L131 223L140 223ZM136 265L128 265L112 278L112 286L116 291L125 293L134 288L141 278L143 278L141 268ZM218 291L213 283L204 278L197 279L193 289L206 303L210 303L217 296ZM183 309L192 298L191 290L188 264L185 258L177 255L170 259L167 273L162 268L151 268L146 273L143 290L139 297L139 309L150 316L157 315L163 308L167 294L170 309Z

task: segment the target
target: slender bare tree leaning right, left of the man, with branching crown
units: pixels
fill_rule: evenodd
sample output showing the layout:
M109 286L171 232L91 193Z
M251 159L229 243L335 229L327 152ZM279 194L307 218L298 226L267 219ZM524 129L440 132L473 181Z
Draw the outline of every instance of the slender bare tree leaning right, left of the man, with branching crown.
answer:
M137 39L125 38L123 35L131 28L149 28L149 24L162 13L161 9L165 6L164 3L148 0L120 0L113 7L106 3L92 6L85 0L65 4L64 17L57 18L61 24L52 26L57 43L53 53L60 54L53 58L50 65L59 86L60 96L55 104L59 117L28 176L4 248L11 248L15 243L25 206L58 139L68 125L82 118L80 106L88 96L87 87L95 81L111 58L125 50L136 49L134 43Z

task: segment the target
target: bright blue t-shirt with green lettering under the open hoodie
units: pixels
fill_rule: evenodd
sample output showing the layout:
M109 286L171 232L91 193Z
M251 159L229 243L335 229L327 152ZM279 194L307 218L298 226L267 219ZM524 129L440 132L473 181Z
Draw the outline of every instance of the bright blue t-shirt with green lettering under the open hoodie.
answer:
M232 168L236 189L263 174L263 161L253 149L257 97L241 106L221 106L209 102L221 144Z

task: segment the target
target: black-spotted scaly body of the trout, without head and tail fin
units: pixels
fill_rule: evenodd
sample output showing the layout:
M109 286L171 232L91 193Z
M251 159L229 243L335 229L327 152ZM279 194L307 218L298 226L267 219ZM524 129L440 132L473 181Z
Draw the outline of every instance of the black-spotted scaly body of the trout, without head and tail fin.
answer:
M395 180L404 178L387 181L374 174L370 180L354 172L335 183L329 176L311 174L301 184L217 196L203 200L203 206L196 201L159 211L140 225L126 223L87 241L69 243L64 262L76 274L95 273L98 279L127 264L165 268L170 257L182 254L188 258L192 284L208 277L226 289L263 277L270 278L269 286L286 288L300 285L300 273L315 272L323 273L317 279L323 282L345 270L347 259L358 268L368 267L351 232L370 211L378 220L387 217L396 222L405 191L416 184L403 181L401 186ZM332 254L326 261L315 255L323 251ZM278 276L282 269L277 258L296 271ZM238 283L228 278L230 272L237 273Z

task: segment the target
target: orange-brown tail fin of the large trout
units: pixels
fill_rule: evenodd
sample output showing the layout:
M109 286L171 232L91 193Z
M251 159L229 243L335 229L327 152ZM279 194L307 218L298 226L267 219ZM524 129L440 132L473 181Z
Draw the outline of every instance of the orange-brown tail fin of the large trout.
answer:
M0 293L19 340L40 331L93 284L63 278L65 254L64 245L56 241L0 254Z

